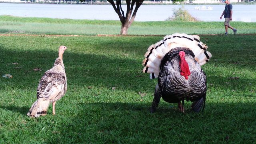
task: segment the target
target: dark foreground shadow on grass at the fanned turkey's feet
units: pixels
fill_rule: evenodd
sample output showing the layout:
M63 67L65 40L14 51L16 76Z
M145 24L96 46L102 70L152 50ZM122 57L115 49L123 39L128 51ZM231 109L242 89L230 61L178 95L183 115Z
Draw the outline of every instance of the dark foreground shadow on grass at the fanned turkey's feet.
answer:
M78 113L70 117L57 135L48 142L219 142L230 136L232 142L254 140L255 103L207 103L203 113L182 114L168 105L150 114L150 104L81 103ZM251 133L252 132L252 133ZM198 136L198 134L202 134ZM157 135L157 136L156 136ZM177 136L186 139L177 139ZM72 139L66 139L72 137Z

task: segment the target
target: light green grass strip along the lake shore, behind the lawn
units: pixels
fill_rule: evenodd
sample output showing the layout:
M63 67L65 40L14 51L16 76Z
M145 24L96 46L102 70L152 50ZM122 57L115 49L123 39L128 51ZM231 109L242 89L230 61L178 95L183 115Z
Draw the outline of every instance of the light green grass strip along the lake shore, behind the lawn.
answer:
M136 20L136 19L135 19ZM255 34L255 22L231 22L237 34ZM70 20L51 18L21 18L0 16L0 34L120 34L118 20ZM224 22L133 22L128 29L131 35L166 35L175 32L186 34L224 34ZM229 29L229 33L233 31Z

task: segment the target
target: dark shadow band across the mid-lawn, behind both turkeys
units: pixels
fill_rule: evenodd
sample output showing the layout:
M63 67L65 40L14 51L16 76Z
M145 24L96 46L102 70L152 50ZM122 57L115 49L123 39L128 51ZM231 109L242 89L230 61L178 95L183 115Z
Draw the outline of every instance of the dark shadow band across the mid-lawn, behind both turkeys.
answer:
M0 65L3 68L0 73L9 73L14 76L11 80L5 79L3 81L10 82L10 84L18 88L35 87L36 90L38 80L46 70L52 68L56 59L55 51L11 51L4 49L4 45L0 45L0 48L2 49L0 54L2 62ZM127 48L122 47L117 49L117 51L126 50ZM136 50L132 48L132 51ZM7 65L12 62L18 62L19 65ZM153 93L157 80L150 80L148 74L142 73L143 66L141 62L142 60L133 60L125 56L112 57L104 54L83 54L69 51L64 53L68 86L118 87L120 90L144 90L145 92ZM21 68L15 69L15 67L20 66ZM33 68L40 68L42 71L35 72ZM242 71L248 67L238 65L236 68ZM207 72L206 70L205 72L206 74L214 74L214 71ZM222 76L207 76L207 78L208 82L215 83L223 89L231 87L236 90L244 90L250 85L238 86L239 82L256 83L253 78L240 78L239 80L229 80ZM230 82L230 84L225 82Z

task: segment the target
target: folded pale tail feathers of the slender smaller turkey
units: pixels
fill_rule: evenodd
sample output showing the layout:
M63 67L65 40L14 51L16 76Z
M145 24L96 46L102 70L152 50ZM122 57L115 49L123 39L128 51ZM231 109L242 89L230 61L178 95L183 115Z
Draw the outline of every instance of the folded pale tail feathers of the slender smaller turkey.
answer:
M45 115L47 113L49 103L49 101L37 99L29 109L27 116L39 117L41 115Z

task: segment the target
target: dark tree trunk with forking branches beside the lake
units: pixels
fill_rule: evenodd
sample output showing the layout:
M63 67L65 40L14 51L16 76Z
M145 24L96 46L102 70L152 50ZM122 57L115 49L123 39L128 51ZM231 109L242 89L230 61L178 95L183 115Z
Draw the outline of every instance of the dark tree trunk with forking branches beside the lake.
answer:
M132 22L135 19L136 13L141 6L144 0L126 0L126 14L124 15L124 11L122 10L121 0L116 0L116 4L114 0L107 0L114 8L115 12L118 14L120 21L122 23L120 34L127 34L128 28L132 25ZM184 0L172 0L173 3L183 2ZM134 4L136 4L134 8ZM134 11L133 11L134 8ZM132 12L133 11L133 12Z

